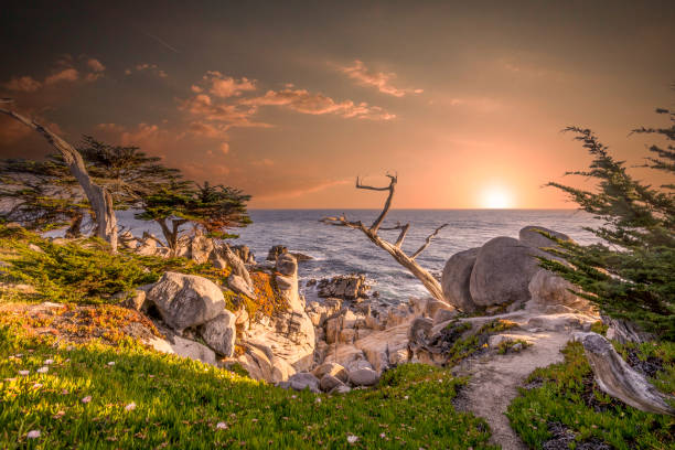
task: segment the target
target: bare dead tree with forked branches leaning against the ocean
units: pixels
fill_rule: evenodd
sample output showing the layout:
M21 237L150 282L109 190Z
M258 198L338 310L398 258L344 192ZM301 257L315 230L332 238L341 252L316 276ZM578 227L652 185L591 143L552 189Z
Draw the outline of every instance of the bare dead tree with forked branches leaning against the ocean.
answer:
M431 274L429 274L419 264L417 264L415 258L417 258L424 250L427 249L429 244L431 244L431 239L433 239L438 235L438 232L440 232L442 228L448 226L448 224L443 224L439 226L438 228L436 228L433 233L431 233L427 237L425 243L413 255L410 256L406 255L406 253L400 247L404 243L404 239L406 238L406 235L408 234L408 229L410 229L410 224L408 223L408 224L401 225L399 223L393 227L382 226L385 217L387 216L387 213L389 212L389 208L392 207L392 199L394 197L394 191L396 189L396 182L397 182L396 175L387 174L387 176L389 178L389 185L385 188L374 188L374 186L361 184L360 179L356 178L356 189L389 192L389 195L387 196L387 200L385 201L384 207L382 212L379 213L379 216L377 216L375 222L373 222L373 224L369 227L364 225L361 221L357 221L357 222L347 221L345 214L342 214L340 217L323 217L321 222L329 224L329 225L346 226L349 228L361 229L367 236L367 238L373 242L373 244L375 244L376 246L378 246L379 248L384 249L389 255L392 255L398 264L400 264L403 267L408 269L410 274L413 274L418 280L420 280L421 283L425 286L425 288L427 288L431 297L442 302L446 302L443 298L443 290L440 283L438 282L438 280L433 278L433 276L431 276ZM399 229L400 233L396 242L392 244L383 239L377 234L377 232L379 232L381 229L384 229L384 231Z

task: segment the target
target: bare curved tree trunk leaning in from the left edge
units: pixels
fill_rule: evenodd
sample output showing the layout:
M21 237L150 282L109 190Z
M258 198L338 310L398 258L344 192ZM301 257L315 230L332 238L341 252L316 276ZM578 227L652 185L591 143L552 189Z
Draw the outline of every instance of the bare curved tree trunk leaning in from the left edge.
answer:
M0 99L0 103L11 103L10 99ZM95 184L87 172L82 156L73 146L64 141L52 132L49 128L43 127L34 120L30 120L18 113L9 109L0 108L0 113L6 114L21 124L34 129L42 135L47 142L52 144L63 156L64 161L68 165L71 173L82 186L96 219L96 234L98 237L107 240L110 244L113 253L117 251L117 218L115 217L115 208L113 207L113 196L110 193Z

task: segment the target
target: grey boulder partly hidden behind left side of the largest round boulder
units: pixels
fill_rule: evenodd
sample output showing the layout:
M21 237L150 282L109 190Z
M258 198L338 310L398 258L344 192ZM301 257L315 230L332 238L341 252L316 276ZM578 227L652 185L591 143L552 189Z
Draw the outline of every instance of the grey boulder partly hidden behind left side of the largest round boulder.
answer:
M480 248L471 248L452 255L446 262L441 277L443 297L450 304L464 312L475 311L469 286L479 250Z

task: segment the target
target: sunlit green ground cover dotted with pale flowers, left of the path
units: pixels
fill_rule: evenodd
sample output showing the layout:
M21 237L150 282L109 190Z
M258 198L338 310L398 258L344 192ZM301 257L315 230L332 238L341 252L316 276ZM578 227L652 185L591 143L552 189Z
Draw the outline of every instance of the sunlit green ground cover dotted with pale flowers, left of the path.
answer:
M47 358L49 372L36 373ZM19 375L23 369L30 375ZM461 383L408 364L373 389L296 393L132 341L54 346L54 338L6 325L0 448L493 448L484 421L451 405ZM30 430L41 437L26 439ZM353 444L350 435L358 438Z

